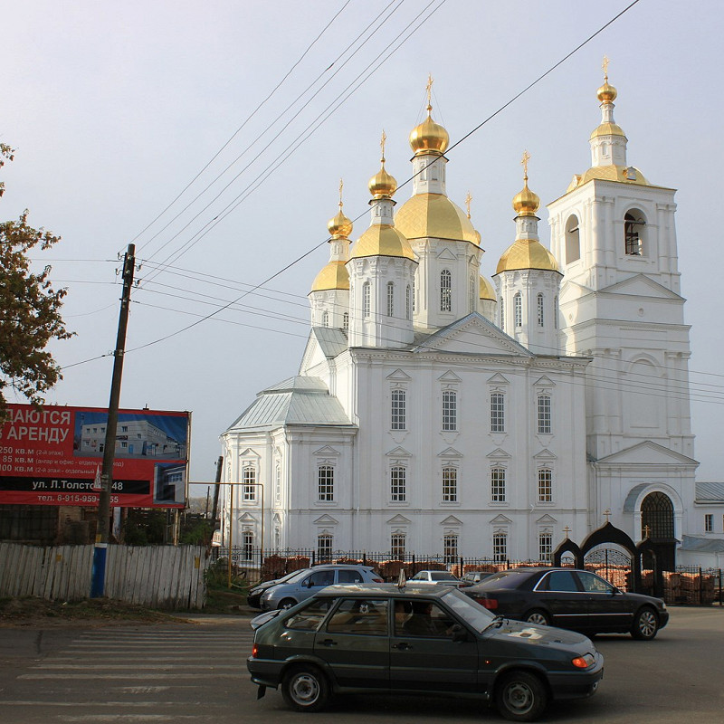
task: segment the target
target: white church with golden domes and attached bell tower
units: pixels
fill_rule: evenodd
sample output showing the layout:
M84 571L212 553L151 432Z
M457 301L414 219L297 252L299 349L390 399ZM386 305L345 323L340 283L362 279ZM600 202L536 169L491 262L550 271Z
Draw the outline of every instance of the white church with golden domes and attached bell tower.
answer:
M524 156L491 280L429 98L412 196L395 201L383 137L367 229L352 241L341 194L329 222L297 375L222 434L224 540L549 560L610 519L700 560L724 501L695 483L675 192L630 165L616 90L606 75L591 167L548 204L549 250Z

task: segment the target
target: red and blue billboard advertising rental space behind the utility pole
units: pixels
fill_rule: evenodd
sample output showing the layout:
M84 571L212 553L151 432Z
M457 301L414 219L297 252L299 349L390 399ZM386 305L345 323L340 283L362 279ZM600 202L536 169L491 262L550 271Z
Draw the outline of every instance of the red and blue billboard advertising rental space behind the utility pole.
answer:
M0 504L98 505L108 410L8 405ZM190 413L119 410L110 504L183 508Z

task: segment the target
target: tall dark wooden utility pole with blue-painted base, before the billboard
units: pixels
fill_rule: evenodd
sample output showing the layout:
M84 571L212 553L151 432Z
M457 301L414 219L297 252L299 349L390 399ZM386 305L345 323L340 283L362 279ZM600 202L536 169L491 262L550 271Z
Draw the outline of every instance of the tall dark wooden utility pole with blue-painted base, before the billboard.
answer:
M136 245L129 243L123 257L123 292L120 298L119 331L113 352L113 377L110 383L106 442L103 447L103 467L100 471L100 496L98 500L98 529L93 550L93 572L90 580L90 597L104 595L106 585L106 553L110 537L110 492L113 485L113 461L116 456L116 431L119 424L120 380L123 375L123 355L126 348L126 329L129 325L130 290L136 266Z

